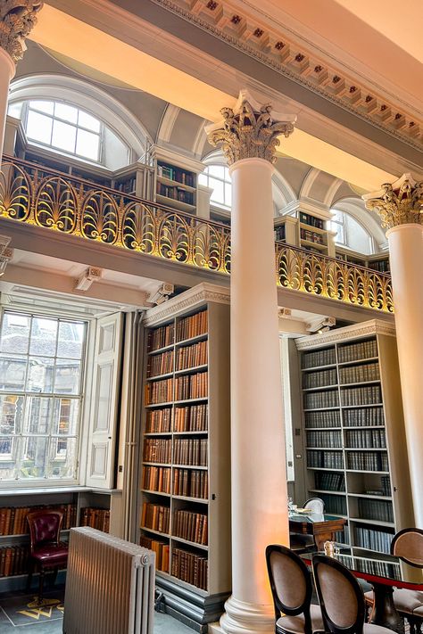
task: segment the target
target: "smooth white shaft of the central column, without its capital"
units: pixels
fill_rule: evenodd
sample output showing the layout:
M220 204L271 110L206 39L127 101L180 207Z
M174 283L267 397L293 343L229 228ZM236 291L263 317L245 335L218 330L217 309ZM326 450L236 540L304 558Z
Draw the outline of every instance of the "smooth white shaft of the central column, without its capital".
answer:
M262 159L231 167L232 595L264 612L265 548L289 540L272 172Z

